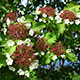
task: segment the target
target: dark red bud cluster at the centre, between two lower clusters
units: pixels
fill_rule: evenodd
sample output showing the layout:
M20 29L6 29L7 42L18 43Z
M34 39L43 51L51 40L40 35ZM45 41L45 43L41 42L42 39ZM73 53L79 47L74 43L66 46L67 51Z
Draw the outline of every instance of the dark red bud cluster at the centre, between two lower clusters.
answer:
M37 42L35 43L35 49L36 50L41 50L41 51L46 51L48 48L48 44L46 43L46 40L43 38L40 38L39 40L37 40Z

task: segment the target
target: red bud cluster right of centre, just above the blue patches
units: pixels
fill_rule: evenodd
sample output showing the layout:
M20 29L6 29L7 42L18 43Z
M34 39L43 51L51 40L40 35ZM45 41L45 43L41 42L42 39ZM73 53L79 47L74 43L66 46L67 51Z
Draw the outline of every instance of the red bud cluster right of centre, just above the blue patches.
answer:
M60 43L56 43L56 45L52 45L51 52L56 53L57 56L60 56L65 54L66 49Z

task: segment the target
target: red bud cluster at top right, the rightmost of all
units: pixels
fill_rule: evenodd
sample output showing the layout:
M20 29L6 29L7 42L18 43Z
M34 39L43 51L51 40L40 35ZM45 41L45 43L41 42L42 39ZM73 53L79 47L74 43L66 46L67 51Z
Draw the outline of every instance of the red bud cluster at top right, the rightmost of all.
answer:
M69 10L63 10L60 14L60 17L65 20L65 19L69 19L69 21L75 21L76 15L74 14L74 12L69 11Z

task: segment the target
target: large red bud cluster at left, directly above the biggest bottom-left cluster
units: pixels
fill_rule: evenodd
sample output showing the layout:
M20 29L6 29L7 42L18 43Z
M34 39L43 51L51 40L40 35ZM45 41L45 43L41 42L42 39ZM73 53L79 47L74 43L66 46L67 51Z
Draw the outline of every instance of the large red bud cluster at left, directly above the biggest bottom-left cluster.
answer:
M7 33L9 34L9 38L25 39L26 37L29 36L29 29L27 29L26 27L27 26L25 26L23 23L17 23L17 24L12 23L8 27Z

